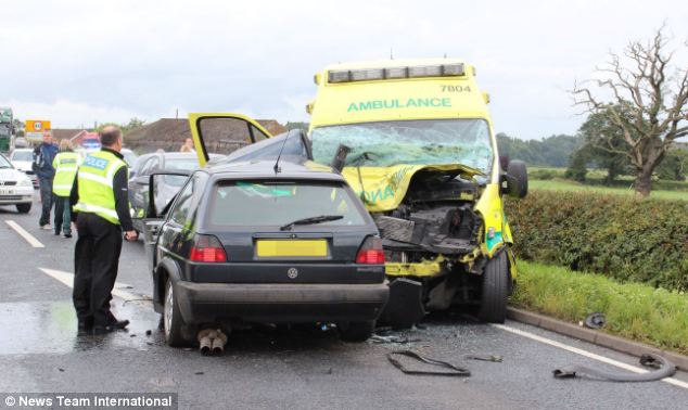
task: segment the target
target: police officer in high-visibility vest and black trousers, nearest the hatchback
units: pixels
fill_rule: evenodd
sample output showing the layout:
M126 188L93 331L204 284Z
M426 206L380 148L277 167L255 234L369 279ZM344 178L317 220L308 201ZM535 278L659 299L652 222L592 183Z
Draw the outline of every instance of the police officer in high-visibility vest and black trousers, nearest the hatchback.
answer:
M89 154L79 166L71 203L78 213L78 240L74 258L74 307L79 331L104 334L129 324L110 311L117 279L122 232L135 241L137 232L129 214L128 169L122 150L122 130L114 126L100 132L102 149Z

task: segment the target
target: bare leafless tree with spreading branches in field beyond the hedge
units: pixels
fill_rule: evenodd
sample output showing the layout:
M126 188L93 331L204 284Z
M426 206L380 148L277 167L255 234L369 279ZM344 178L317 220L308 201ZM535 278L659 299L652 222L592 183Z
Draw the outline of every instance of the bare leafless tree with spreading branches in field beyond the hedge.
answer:
M623 154L636 168L635 190L640 197L650 195L652 172L674 141L688 134L688 66L670 65L674 53L665 50L665 28L660 27L650 41L630 42L621 56L610 53L609 64L597 69L600 79L583 87L576 84L572 91L576 105L606 113L621 129L628 143ZM688 43L684 46L688 49ZM598 97L604 93L609 98ZM603 134L597 145L622 153Z

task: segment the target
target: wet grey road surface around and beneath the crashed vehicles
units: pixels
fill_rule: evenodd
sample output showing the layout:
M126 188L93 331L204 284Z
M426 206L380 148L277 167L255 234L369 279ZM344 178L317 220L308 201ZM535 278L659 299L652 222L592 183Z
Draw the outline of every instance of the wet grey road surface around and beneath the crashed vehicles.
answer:
M38 203L29 215L0 207L0 392L171 392L183 409L688 408L688 389L663 382L555 380L551 371L571 363L620 369L458 313L435 315L416 330L392 333L411 341L403 344L346 344L335 330L315 326L246 329L231 335L224 356L204 357L165 346L150 302L115 298L115 315L131 321L128 331L77 335L71 289L40 270L72 273L76 239L39 230L38 216ZM46 247L31 247L5 220ZM125 243L117 281L141 298L151 295L141 242ZM507 325L637 364L634 357L585 342ZM471 376L404 374L386 355L405 348L467 368ZM464 359L469 354L499 355L504 361ZM683 372L675 377L688 382Z

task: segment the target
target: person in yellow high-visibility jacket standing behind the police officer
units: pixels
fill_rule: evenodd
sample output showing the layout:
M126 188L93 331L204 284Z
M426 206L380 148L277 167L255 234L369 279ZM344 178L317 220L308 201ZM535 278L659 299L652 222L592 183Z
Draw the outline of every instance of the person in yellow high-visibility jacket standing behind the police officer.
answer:
M60 152L52 161L55 177L52 181L52 193L55 195L55 235L62 233L64 238L72 238L72 206L69 193L76 177L76 170L81 163L81 156L72 149L72 141L60 141Z

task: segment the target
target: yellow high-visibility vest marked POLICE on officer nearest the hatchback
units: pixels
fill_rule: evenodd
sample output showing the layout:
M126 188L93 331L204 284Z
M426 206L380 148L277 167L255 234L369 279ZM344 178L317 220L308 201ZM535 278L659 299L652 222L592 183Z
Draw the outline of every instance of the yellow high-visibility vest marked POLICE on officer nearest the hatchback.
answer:
M113 182L115 174L127 164L106 151L89 154L77 174L79 184L79 202L74 210L95 214L112 223L119 225L115 208Z

